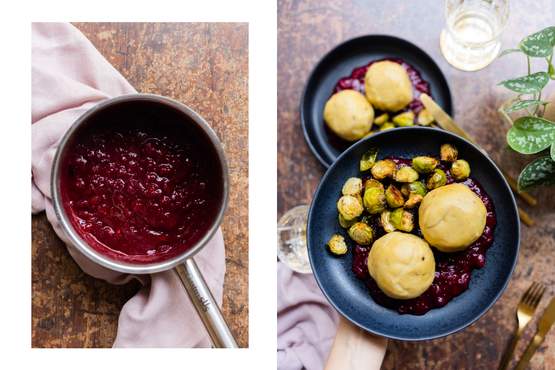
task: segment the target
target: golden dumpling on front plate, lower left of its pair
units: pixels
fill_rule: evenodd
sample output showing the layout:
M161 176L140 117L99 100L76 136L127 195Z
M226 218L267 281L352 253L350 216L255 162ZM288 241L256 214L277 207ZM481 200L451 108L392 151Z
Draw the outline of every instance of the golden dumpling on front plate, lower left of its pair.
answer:
M387 296L396 299L424 293L434 281L435 266L428 243L399 231L376 240L368 254L370 276Z

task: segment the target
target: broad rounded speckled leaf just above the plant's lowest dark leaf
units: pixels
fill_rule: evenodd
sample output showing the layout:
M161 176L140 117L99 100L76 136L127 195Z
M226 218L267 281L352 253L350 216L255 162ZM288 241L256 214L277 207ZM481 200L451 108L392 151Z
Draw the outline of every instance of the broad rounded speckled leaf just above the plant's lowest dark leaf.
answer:
M555 123L539 117L520 117L507 132L509 146L522 154L534 154L555 142Z

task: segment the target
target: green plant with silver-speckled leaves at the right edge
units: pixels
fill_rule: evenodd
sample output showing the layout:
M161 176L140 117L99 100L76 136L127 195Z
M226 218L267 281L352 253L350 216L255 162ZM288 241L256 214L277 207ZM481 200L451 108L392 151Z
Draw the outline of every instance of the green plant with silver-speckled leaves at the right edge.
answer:
M528 62L525 76L500 83L518 94L499 109L500 114L512 124L507 132L507 143L519 153L540 154L520 173L518 186L521 190L537 185L555 185L555 114L549 114L555 107L555 101L549 103L542 100L545 86L550 80L555 80L552 63L554 47L555 26L552 26L525 37L518 48L505 50L500 55L519 53ZM532 58L544 59L546 69L532 72ZM518 118L513 119L512 116L517 114Z

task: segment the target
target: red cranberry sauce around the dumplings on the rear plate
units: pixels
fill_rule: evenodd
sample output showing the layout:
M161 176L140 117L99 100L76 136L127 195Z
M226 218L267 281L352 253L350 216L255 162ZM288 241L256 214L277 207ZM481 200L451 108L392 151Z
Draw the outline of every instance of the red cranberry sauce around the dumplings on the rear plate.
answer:
M403 59L400 59L400 58L384 58L379 60L373 60L365 66L356 67L355 69L353 69L350 76L343 77L339 81L337 81L333 89L333 93L335 94L336 92L339 92L341 90L351 89L351 90L357 90L362 94L364 94L364 76L366 75L366 71L368 70L368 67L370 67L372 64L376 62L381 62L384 60L398 63L407 71L407 74L409 75L409 79L412 83L412 87L413 87L412 92L413 92L414 99L412 100L412 102L410 102L406 110L412 110L415 114L418 114L424 108L424 105L420 101L420 94L425 93L425 94L431 95L430 84L428 83L428 81L425 81L422 78L422 75L416 68L414 68L412 65L408 64L407 62L405 62Z

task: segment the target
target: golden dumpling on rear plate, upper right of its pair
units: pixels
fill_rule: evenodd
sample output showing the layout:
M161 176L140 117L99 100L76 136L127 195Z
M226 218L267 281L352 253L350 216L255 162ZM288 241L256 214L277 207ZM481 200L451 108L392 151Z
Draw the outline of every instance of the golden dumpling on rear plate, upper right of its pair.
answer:
M399 63L373 63L366 71L364 87L368 101L377 109L397 112L412 101L409 75Z

